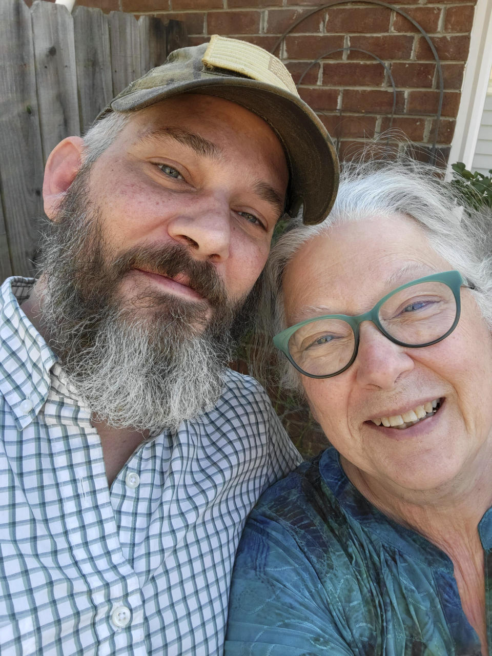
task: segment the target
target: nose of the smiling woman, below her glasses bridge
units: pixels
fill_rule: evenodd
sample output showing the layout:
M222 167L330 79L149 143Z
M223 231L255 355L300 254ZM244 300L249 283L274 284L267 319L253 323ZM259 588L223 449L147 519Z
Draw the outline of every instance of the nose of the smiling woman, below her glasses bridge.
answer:
M404 346L385 337L371 321L363 321L359 331L359 350L354 362L359 384L391 390L403 373L413 369L413 358Z

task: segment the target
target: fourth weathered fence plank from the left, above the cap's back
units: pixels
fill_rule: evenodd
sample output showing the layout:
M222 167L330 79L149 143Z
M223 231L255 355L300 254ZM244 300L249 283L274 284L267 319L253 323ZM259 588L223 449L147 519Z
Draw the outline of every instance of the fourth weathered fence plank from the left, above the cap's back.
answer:
M142 75L140 35L132 14L110 13L111 72L113 96Z

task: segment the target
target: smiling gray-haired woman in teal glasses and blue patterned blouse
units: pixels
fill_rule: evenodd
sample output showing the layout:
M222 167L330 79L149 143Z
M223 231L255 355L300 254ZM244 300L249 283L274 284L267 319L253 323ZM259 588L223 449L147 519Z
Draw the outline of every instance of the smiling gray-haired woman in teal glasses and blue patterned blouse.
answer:
M277 243L283 382L332 447L251 514L226 656L488 653L487 240L449 187L388 164L345 174L329 218Z

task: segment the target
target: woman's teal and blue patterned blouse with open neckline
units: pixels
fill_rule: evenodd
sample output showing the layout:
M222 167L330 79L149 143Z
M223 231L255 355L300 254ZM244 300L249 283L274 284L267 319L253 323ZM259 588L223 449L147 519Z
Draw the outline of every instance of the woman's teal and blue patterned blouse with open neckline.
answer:
M479 525L492 646L492 509ZM478 656L451 560L327 449L270 488L237 552L225 656Z

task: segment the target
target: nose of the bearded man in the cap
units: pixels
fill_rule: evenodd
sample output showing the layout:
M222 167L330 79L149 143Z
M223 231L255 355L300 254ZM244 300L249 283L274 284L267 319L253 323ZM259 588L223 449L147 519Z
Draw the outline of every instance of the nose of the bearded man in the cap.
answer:
M226 194L197 195L168 223L169 236L199 259L222 262L230 253L231 216Z

